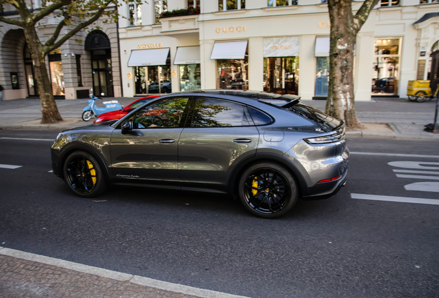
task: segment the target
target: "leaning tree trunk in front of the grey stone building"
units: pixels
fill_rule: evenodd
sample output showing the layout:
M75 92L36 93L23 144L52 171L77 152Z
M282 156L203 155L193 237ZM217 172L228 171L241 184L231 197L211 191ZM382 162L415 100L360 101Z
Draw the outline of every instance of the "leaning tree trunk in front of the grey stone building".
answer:
M50 83L46 68L45 59L48 53L43 52L43 46L39 43L35 27L23 27L23 30L34 62L35 80L37 81L41 100L41 123L57 123L58 121L63 121L53 97L52 83Z

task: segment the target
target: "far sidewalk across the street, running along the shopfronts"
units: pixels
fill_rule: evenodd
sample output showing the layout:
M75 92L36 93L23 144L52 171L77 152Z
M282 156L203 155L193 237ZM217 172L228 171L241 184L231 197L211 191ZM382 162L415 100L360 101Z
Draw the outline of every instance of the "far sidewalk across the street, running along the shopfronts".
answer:
M138 98L138 97L137 97ZM117 100L123 106L135 99L108 98ZM326 101L305 100L319 110L324 110ZM57 106L63 123L41 124L41 106L39 99L16 99L0 101L0 129L50 129L65 130L78 126L88 126L90 121L82 121L82 109L88 99L57 100ZM99 104L99 103L98 103ZM101 104L101 103L100 103ZM348 137L396 138L396 139L439 139L439 135L424 130L425 125L433 123L436 100L423 103L399 98L373 98L372 101L355 103L357 115L365 128L359 131L347 131Z

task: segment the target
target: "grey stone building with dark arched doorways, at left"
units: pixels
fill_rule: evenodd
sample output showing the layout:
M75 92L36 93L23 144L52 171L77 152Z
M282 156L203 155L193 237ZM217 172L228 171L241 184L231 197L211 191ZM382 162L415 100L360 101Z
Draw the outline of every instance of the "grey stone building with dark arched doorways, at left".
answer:
M36 9L39 3L41 1L30 1L29 7ZM18 17L10 4L3 6L1 14L12 19ZM39 22L37 32L42 43L52 36L59 21L46 17ZM101 29L93 29L97 27ZM64 27L61 34L68 30L68 26ZM0 59L3 100L39 97L23 29L0 23ZM104 18L99 19L90 28L79 31L75 37L50 52L46 65L55 99L86 98L90 92L104 97L120 97L117 23L104 23Z

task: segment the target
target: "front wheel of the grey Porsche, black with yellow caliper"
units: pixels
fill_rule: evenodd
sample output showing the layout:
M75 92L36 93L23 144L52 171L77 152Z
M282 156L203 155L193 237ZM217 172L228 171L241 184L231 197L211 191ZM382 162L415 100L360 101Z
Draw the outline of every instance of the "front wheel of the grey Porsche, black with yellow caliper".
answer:
M95 197L107 188L104 173L88 152L72 152L64 163L64 180L75 195Z

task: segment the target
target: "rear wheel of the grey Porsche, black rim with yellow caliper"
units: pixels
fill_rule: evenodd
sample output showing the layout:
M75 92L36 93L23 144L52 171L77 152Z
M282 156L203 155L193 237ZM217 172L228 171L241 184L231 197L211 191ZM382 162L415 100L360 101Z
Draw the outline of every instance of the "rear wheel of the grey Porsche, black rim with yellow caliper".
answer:
M297 186L288 170L276 163L256 163L240 178L240 199L257 217L273 219L289 212L297 201Z

